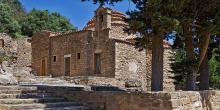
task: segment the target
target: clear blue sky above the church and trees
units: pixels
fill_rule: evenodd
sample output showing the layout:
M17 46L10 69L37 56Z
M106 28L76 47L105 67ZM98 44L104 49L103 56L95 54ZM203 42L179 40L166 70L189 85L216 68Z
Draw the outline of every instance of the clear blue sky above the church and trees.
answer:
M33 8L59 12L79 29L82 29L87 21L93 17L94 11L99 6L98 4L94 5L92 2L81 2L81 0L20 0L20 2L27 12ZM129 0L108 7L121 12L134 9L132 3L129 5Z

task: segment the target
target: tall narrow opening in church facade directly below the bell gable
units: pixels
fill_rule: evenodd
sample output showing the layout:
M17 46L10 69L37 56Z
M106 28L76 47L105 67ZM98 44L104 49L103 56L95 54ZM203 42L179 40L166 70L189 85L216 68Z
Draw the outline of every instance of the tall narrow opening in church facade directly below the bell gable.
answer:
M100 74L101 73L101 58L100 54L95 54L94 58L94 67L95 67L95 74Z

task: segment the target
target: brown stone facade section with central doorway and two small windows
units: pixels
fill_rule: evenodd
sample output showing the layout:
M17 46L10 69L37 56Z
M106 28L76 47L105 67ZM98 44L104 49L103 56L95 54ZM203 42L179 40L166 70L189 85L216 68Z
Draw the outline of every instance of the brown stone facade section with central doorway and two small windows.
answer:
M92 38L90 31L74 32L53 36L50 38L50 74L53 76L64 76L64 57L70 57L70 76L88 75L91 66L89 59L92 59L89 43ZM79 56L78 56L79 54ZM54 61L54 56L56 61ZM78 58L80 57L80 58Z

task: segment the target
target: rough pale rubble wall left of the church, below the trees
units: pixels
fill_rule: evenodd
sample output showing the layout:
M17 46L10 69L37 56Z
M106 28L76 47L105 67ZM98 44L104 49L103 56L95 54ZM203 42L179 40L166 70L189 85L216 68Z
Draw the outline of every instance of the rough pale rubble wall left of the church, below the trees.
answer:
M0 33L0 54L11 57L17 67L31 66L31 43L29 38L12 39L9 35Z

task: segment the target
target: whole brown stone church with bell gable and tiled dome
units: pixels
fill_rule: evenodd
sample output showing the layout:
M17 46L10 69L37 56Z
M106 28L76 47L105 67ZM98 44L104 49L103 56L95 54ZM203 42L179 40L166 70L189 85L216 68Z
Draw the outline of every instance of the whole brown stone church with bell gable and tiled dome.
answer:
M63 34L35 33L32 37L33 70L40 76L84 76L95 77L96 81L102 78L100 82L118 82L117 86L135 82L133 86L140 85L146 90L150 86L151 54L134 47L136 36L123 31L127 26L125 17L123 13L99 7L83 30ZM166 42L164 48L166 54L170 50ZM164 59L167 61L168 57L165 55ZM164 68L164 85L170 85L170 67L165 65Z

